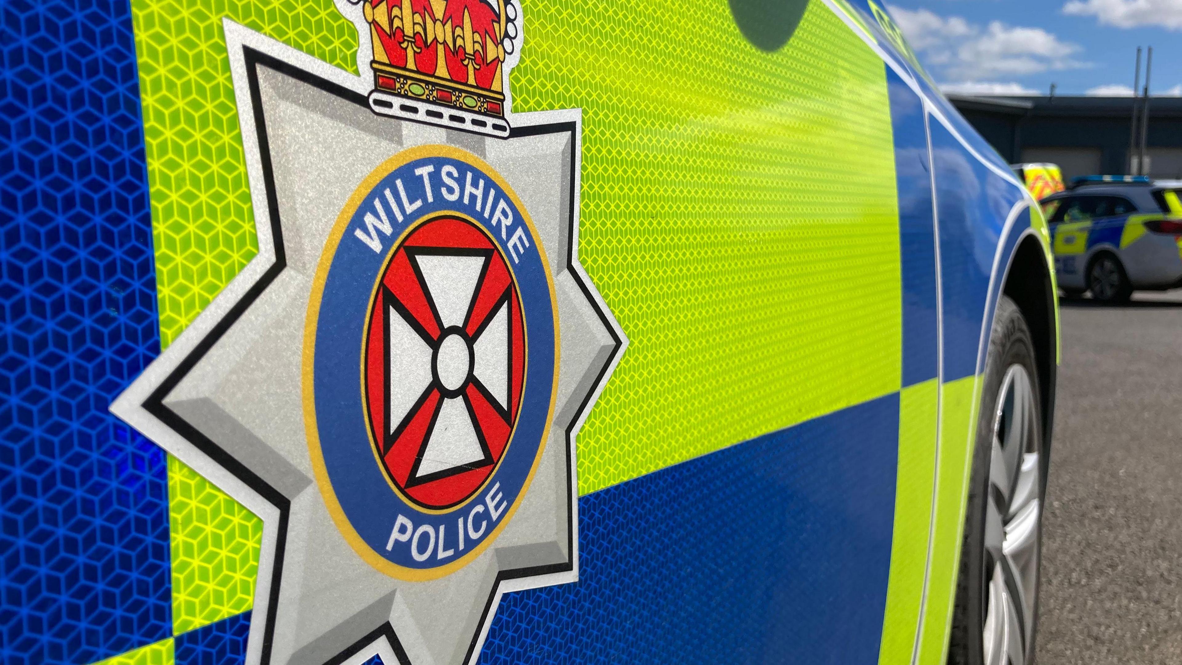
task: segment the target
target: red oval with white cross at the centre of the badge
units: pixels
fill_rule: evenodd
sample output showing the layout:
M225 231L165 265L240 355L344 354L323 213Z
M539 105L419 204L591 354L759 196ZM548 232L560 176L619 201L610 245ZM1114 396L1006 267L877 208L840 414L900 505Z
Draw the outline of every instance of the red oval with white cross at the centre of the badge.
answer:
M369 316L378 459L415 503L456 505L495 469L517 421L525 332L508 264L475 224L433 219L392 252Z

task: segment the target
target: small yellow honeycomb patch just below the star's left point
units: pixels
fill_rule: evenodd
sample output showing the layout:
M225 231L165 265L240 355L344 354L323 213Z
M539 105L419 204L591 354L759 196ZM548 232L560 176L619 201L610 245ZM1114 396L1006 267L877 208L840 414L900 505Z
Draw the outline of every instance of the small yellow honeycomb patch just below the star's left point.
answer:
M173 456L168 457L168 504L174 632L249 609L262 519Z

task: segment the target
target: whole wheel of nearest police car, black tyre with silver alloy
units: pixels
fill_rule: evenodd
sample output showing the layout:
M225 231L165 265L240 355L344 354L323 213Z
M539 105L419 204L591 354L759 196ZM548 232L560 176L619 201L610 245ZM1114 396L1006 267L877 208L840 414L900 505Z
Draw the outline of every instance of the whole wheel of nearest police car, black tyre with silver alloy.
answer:
M1034 658L1046 450L1034 343L1013 301L993 319L965 516L950 665Z

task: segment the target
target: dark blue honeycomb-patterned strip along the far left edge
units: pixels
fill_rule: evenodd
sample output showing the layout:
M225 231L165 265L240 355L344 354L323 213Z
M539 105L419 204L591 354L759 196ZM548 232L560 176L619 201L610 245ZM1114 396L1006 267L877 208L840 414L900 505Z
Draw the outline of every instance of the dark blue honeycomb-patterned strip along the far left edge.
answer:
M0 661L76 665L171 628L164 454L108 413L160 351L126 5L7 0L0 52Z

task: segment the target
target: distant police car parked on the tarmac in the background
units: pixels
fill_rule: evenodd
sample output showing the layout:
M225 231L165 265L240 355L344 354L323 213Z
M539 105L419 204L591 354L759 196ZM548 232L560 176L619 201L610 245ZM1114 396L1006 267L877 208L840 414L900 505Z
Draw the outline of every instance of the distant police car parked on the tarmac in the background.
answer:
M1059 288L1117 302L1182 285L1180 193L1182 182L1098 175L1043 199Z

